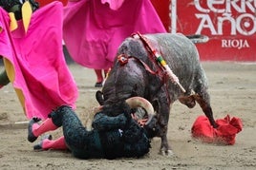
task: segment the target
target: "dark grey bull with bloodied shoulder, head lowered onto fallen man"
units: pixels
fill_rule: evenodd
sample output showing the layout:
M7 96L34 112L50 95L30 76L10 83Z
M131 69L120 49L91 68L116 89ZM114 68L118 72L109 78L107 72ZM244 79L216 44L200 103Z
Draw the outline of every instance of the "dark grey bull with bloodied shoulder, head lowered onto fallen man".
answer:
M151 47L161 54L168 66L179 78L185 89L181 91L173 84L164 69L146 49L141 39L129 37L118 47L117 57L108 78L98 91L96 98L99 104L113 104L119 100L140 96L153 104L156 117L145 126L149 135L160 137L160 152L170 154L171 147L167 141L167 127L171 105L179 100L189 108L200 104L210 123L216 127L213 119L210 98L207 92L207 81L200 63L198 50L182 34L147 34ZM103 98L100 96L103 94Z

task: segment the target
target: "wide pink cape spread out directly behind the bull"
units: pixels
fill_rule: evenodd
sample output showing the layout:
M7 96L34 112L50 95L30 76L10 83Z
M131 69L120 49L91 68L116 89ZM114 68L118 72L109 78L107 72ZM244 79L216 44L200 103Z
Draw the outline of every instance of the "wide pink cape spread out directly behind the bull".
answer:
M79 0L64 7L63 39L81 66L108 69L132 33L166 32L150 0Z

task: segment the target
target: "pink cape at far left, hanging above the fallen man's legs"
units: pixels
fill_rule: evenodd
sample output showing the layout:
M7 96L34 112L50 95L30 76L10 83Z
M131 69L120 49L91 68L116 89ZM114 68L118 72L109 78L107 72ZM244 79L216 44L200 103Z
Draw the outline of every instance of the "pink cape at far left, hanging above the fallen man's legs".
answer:
M20 21L10 31L9 15L0 8L0 55L14 67L13 86L23 92L28 119L45 119L61 104L75 108L77 87L62 51L62 12L60 2L37 9L25 34Z

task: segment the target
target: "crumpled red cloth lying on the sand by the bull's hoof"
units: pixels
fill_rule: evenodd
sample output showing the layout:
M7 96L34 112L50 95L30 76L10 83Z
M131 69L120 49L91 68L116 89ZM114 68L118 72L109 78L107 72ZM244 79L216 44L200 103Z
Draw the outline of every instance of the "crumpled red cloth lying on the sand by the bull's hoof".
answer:
M227 115L224 119L216 120L216 123L219 126L213 128L206 116L199 116L192 126L192 136L203 142L234 144L236 134L243 128L241 119L236 117L230 119Z

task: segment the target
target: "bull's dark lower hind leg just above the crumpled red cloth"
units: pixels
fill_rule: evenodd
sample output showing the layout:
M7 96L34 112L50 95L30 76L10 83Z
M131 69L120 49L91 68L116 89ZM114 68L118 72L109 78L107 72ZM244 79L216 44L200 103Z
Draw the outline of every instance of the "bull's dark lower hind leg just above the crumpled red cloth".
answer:
M209 102L209 94L207 92L204 92L203 94L195 94L193 95L195 100L198 104L200 104L201 108L203 109L203 113L208 118L211 125L216 128L218 127L218 124L215 123L212 113L212 108L210 106Z

